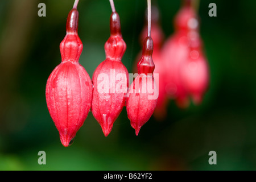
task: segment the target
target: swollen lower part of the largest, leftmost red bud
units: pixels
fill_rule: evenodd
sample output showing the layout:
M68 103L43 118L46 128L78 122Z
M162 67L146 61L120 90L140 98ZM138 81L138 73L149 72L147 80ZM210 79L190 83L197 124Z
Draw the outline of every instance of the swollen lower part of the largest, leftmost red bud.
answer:
M49 113L67 147L83 125L92 100L92 82L79 63L60 63L51 73L46 86Z

